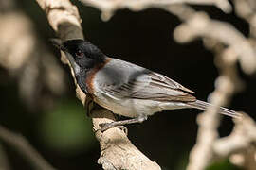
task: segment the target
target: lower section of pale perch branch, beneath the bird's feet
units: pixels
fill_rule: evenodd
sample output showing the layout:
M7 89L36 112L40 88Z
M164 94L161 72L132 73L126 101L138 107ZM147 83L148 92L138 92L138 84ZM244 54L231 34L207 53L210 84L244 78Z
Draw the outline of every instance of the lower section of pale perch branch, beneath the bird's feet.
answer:
M105 118L102 119L102 117ZM108 110L94 111L93 124L98 129L99 124L114 120L113 114ZM110 128L103 134L98 131L96 137L101 144L101 158L98 162L104 169L160 169L159 165L143 155L119 128Z

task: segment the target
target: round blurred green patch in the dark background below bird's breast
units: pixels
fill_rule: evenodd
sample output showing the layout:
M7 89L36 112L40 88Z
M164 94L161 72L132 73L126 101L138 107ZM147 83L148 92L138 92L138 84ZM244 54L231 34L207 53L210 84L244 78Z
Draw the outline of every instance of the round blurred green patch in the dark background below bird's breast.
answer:
M38 135L46 146L62 154L78 154L95 144L91 119L78 102L62 101L43 115Z

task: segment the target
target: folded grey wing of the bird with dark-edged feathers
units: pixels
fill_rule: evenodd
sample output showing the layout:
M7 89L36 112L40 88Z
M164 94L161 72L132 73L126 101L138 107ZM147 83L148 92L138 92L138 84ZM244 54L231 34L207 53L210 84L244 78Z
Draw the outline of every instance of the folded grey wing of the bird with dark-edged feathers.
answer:
M113 98L155 101L194 101L191 90L167 76L162 76L119 59L112 61L98 75L98 88Z

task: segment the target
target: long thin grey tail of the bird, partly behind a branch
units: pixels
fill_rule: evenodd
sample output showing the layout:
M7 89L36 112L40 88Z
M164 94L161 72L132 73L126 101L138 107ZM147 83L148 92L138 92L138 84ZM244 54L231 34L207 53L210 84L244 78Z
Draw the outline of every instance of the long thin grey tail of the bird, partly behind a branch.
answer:
M201 100L196 100L194 102L188 102L187 103L189 106L191 106L192 108L196 108L199 110L207 110L209 107L214 107L213 105L211 105L210 103L201 101ZM230 117L234 117L234 118L241 118L242 114L234 111L234 110L229 110L227 108L223 108L220 107L218 113L220 114L224 114L224 115L228 115Z

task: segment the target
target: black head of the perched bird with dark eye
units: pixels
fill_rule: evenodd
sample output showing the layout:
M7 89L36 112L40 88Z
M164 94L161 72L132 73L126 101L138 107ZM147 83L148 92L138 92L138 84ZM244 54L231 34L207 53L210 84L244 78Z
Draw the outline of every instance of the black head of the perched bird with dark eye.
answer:
M93 68L95 65L103 63L106 58L97 46L81 39L63 42L61 49L69 53L82 69Z

